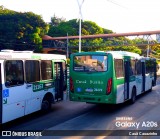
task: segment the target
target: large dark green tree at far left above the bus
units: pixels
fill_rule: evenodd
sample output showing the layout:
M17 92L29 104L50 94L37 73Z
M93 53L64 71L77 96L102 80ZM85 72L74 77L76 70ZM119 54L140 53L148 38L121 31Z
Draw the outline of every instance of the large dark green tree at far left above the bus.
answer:
M41 51L42 36L49 28L40 15L15 12L0 6L0 21L1 49Z

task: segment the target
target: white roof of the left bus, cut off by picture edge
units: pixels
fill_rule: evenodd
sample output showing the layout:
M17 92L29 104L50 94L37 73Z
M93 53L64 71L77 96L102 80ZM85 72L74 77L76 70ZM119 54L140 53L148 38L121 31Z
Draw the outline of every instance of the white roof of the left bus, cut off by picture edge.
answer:
M37 59L37 60L52 60L52 59L66 59L65 55L59 54L41 54L33 53L32 51L13 51L13 50L2 50L0 52L0 59Z

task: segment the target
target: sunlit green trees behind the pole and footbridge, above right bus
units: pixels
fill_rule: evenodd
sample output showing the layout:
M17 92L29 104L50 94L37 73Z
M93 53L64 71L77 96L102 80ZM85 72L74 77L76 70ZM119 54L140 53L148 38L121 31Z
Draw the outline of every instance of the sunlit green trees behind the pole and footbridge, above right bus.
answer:
M79 35L79 23L76 19L69 20L66 22L60 22L57 26L50 26L48 32L49 36L59 37L66 36L78 36ZM82 36L83 35L94 35L94 34L110 34L112 30L104 29L98 26L92 21L82 22ZM96 39L82 39L82 51L108 51L108 50L121 50L130 51L141 54L141 50L134 46L134 42L125 37L116 38L96 38ZM78 52L79 40L69 40L69 46L72 46L71 52ZM130 46L126 46L130 44ZM117 46L119 45L119 46Z

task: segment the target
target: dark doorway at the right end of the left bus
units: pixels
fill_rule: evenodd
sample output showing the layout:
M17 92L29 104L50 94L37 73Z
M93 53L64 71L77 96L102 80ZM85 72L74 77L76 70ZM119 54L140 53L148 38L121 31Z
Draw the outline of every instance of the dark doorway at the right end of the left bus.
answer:
M55 100L63 100L64 80L65 80L65 67L64 62L54 63L55 75Z

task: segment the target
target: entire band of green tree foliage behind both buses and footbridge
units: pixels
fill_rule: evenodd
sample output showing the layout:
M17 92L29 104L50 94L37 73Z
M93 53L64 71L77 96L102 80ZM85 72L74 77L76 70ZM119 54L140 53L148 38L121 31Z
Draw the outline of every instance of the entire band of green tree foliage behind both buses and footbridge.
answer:
M0 21L0 49L34 49L41 52L42 36L47 33L52 37L79 35L79 22L76 19L66 21L55 15L51 17L51 22L46 24L40 15L32 12L15 12L0 6ZM95 22L82 22L82 36L111 33L112 30L101 28ZM144 41L143 39L132 41L125 37L82 39L82 51L123 50L141 54L141 50L134 45ZM78 39L69 40L71 52L78 51L78 43ZM159 52L159 46L153 50Z

